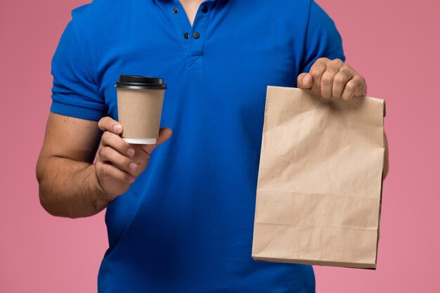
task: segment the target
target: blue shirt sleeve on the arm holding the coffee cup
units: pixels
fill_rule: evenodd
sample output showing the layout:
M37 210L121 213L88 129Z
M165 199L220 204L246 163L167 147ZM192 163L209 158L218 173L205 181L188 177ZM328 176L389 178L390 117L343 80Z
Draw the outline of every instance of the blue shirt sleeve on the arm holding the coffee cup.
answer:
M53 88L51 112L98 121L107 115L108 107L98 91L89 68L91 62L83 53L69 22L52 59Z

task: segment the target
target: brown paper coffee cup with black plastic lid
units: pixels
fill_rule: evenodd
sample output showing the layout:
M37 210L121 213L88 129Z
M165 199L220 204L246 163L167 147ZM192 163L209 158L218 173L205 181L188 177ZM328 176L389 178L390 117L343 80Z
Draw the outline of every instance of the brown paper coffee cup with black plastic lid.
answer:
M155 144L167 85L160 78L121 75L115 86L122 138L128 143Z

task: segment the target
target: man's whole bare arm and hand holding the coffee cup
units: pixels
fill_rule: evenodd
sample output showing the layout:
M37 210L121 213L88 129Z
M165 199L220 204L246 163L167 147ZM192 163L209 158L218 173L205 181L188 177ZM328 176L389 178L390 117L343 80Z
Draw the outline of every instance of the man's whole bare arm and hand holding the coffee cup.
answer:
M70 218L102 211L130 188L151 152L172 135L164 128L155 145L130 145L118 126L110 117L96 122L49 114L37 162L39 199L46 211Z

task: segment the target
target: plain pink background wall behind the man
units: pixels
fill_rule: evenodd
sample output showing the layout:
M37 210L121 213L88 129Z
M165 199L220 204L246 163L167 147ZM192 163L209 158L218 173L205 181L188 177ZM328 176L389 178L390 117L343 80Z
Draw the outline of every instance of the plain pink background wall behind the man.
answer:
M96 292L104 214L61 219L34 175L51 103L51 56L86 0L0 4L0 292ZM440 292L440 4L318 0L368 94L387 99L390 173L377 271L316 267L317 292Z

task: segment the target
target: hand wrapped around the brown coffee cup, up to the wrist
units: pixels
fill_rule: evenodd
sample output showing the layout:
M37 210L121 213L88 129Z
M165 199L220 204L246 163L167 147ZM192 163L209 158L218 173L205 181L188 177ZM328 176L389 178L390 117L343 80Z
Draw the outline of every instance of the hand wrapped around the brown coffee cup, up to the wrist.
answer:
M98 127L103 136L96 153L96 178L108 194L107 200L112 201L129 190L131 183L148 167L153 150L172 136L172 130L160 129L155 145L135 145L119 136L122 125L111 117L103 117Z

